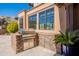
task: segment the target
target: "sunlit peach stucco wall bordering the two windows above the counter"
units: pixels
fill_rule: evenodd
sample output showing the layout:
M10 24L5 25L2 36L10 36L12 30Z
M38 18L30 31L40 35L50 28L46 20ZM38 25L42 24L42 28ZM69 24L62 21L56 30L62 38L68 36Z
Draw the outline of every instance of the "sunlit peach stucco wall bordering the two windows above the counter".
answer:
M36 32L47 32L47 33L57 33L60 30L60 21L59 21L59 9L55 4L50 4L50 3L46 3L46 4L41 4L35 8L33 8L32 10L28 11L26 13L26 30L29 30L29 22L28 22L28 17L30 15L36 14L41 12L44 9L50 8L50 7L54 7L54 29L53 30L39 30L39 19L37 19L37 24L36 27L37 29L35 30ZM38 14L37 14L38 15ZM37 17L38 18L38 17Z

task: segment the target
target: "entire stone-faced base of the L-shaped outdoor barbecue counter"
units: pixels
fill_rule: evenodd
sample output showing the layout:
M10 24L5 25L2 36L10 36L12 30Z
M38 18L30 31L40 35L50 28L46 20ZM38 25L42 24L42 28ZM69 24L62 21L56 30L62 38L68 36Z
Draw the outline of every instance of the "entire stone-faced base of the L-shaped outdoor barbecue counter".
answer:
M60 45L56 45L54 42L55 35L56 34L38 33L38 35L36 35L32 39L23 40L21 34L13 34L11 36L12 48L15 50L16 53L19 53L23 50L40 45L56 53L60 53Z

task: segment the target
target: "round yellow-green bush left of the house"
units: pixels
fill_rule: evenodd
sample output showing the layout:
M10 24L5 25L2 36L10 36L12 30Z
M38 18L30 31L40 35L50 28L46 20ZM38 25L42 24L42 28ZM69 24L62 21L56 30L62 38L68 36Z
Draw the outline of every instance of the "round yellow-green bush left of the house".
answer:
M7 31L9 33L15 33L18 31L18 24L17 22L11 22L8 26L7 26Z

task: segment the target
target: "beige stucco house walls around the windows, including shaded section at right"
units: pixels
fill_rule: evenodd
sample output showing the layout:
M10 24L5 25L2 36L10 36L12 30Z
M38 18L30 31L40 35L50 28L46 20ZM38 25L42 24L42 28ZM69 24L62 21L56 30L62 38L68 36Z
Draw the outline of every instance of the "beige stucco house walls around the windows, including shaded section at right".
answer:
M39 30L39 12L48 9L50 7L54 8L54 29L53 30ZM60 30L65 31L66 29L73 30L73 4L51 4L42 3L36 7L33 7L30 11L23 11L18 14L18 16L23 16L23 28L27 31L29 29L28 17L30 15L37 14L37 25L34 31L45 32L45 33L58 33ZM75 26L76 27L76 26Z

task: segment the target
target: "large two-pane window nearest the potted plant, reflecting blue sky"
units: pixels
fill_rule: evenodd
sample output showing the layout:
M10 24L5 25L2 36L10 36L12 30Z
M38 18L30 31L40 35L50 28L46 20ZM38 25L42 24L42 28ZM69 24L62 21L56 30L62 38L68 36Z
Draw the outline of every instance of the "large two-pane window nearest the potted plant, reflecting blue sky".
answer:
M52 30L54 23L54 8L50 8L39 13L39 22L41 30Z

